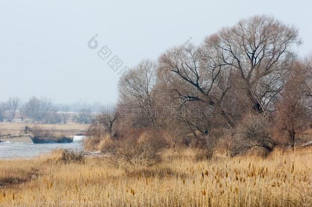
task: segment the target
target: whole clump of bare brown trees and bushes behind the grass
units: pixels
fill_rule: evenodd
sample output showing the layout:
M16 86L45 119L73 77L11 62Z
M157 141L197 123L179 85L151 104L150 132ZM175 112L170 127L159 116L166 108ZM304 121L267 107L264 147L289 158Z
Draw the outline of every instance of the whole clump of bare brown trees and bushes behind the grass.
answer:
M312 58L297 56L300 43L295 27L254 16L143 60L122 75L116 110L93 121L85 146L130 165L151 165L168 147L195 148L198 159L294 148L311 125Z

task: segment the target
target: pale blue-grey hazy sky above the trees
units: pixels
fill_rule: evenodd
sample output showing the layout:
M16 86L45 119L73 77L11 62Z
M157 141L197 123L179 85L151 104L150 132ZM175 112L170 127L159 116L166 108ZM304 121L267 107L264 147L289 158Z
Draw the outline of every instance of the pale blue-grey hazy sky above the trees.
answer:
M54 102L116 102L119 72L157 59L190 37L257 14L299 28L299 55L312 52L310 1L5 1L0 0L0 101L44 96ZM87 42L97 34L97 49ZM93 45L93 44L92 44ZM102 50L107 59L97 52ZM123 61L115 70L107 63ZM105 56L105 57L106 57ZM116 57L115 57L116 58Z

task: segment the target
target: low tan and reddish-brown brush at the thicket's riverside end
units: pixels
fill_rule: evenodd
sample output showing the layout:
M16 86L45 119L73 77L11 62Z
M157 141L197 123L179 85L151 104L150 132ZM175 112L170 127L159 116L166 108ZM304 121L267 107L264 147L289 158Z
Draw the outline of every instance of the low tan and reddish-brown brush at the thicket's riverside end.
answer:
M93 145L97 143L97 145ZM167 146L163 137L154 131L133 132L125 138L114 139L108 134L91 136L85 140L84 147L96 146L96 149L108 154L114 165L125 168L151 166L161 161L161 155Z

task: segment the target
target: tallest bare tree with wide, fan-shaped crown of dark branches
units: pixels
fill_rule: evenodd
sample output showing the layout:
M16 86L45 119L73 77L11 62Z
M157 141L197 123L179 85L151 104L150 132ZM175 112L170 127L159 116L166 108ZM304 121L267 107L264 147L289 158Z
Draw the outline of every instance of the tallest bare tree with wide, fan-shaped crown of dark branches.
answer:
M295 27L269 16L243 19L205 42L215 66L235 68L251 106L262 112L276 102L295 56L292 46L300 44Z

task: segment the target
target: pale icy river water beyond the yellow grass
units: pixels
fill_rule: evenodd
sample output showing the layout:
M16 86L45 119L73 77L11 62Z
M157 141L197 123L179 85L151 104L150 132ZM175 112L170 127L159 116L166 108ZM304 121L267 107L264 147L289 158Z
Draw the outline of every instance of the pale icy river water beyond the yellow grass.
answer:
M84 136L74 136L72 143L33 144L33 143L0 143L0 159L30 158L51 152L55 149L83 150Z

